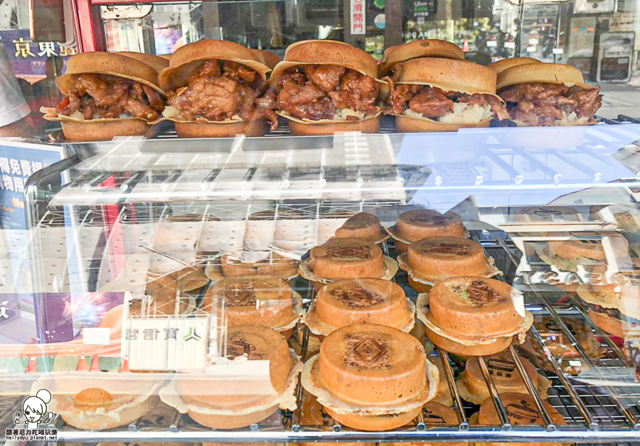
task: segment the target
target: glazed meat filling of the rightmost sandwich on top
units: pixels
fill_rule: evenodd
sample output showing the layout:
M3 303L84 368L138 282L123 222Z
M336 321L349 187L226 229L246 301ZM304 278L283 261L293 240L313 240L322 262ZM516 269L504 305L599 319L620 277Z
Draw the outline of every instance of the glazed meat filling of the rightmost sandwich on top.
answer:
M542 82L513 85L499 92L507 102L511 119L530 126L552 126L575 112L591 119L602 104L600 87L583 89Z

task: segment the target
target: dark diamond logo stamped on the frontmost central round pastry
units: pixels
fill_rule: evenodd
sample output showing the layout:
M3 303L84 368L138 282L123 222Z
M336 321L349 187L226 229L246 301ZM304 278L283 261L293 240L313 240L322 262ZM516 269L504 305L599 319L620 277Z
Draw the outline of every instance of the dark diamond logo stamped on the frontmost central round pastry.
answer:
M380 336L346 335L344 364L358 369L390 369L388 345Z

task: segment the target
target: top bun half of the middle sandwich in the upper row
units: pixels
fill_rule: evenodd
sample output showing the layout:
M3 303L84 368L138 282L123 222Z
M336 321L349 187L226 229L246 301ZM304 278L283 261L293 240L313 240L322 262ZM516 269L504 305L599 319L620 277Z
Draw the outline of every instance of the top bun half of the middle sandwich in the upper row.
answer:
M278 62L271 73L270 82L297 65L338 65L375 77L378 67L369 53L336 40L302 40L292 43L284 53L284 60Z

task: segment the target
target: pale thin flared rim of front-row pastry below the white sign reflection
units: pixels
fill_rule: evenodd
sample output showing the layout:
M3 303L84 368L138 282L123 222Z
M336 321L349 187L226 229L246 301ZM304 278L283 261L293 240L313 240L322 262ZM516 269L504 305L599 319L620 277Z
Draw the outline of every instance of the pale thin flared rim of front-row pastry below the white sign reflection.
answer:
M298 384L297 376L302 371L302 362L299 361L298 355L295 354L292 349L289 349L289 354L292 359L292 367L291 371L289 371L289 375L287 376L287 388L285 388L284 392L279 395L274 395L271 401L262 403L260 406L235 411L228 409L212 409L198 406L196 404L183 403L182 398L178 393L178 389L176 388L176 379L171 380L167 386L160 389L160 399L167 406L171 406L178 410L179 413L197 412L202 413L203 415L248 415L250 413L262 412L263 410L270 409L274 406L279 406L279 408L283 410L296 410L297 399L295 393Z

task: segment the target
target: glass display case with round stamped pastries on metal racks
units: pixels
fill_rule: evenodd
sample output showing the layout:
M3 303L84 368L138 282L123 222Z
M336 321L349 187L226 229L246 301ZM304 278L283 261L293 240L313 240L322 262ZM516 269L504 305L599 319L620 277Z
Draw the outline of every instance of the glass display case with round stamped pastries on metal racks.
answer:
M639 440L640 124L393 130L64 143L6 432L31 395L65 444Z

